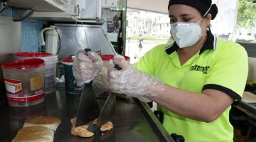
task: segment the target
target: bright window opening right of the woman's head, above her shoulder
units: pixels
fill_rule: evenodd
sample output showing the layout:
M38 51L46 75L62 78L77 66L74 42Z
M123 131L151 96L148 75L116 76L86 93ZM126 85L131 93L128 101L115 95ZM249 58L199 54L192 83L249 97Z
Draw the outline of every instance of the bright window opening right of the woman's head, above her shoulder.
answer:
M211 22L211 30L218 38L240 43L250 57L256 58L256 1L213 0L219 13Z

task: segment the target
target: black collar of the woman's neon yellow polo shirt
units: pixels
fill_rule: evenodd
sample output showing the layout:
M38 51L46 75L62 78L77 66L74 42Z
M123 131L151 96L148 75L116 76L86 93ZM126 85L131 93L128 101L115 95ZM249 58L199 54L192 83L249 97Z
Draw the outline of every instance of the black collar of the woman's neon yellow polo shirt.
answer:
M215 50L216 48L216 38L215 36L213 35L213 33L211 33L211 31L207 31L207 38L206 38L206 42L203 44L203 47L201 48L200 52L199 52L199 55L201 53L203 53L205 50ZM174 53L174 51L177 51L179 49L178 45L176 44L176 42L174 42L174 44L172 45L168 45L166 46L165 50L166 50L166 53L168 55L170 55L171 53Z

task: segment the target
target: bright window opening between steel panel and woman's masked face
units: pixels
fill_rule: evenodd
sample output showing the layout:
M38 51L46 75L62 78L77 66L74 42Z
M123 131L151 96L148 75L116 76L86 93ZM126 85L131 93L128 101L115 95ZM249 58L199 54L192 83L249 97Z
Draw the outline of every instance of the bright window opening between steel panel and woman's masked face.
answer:
M170 37L169 15L127 9L127 35L125 54L137 62L156 45L166 43Z

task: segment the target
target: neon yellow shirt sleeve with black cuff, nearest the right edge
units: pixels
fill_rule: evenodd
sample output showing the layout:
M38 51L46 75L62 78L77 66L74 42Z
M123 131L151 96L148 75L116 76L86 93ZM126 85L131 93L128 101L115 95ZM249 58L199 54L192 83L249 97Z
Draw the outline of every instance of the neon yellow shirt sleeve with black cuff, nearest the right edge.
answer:
M235 100L240 100L248 75L248 57L245 48L238 43L227 43L217 52L219 53L213 59L215 62L210 67L203 90L217 89Z

